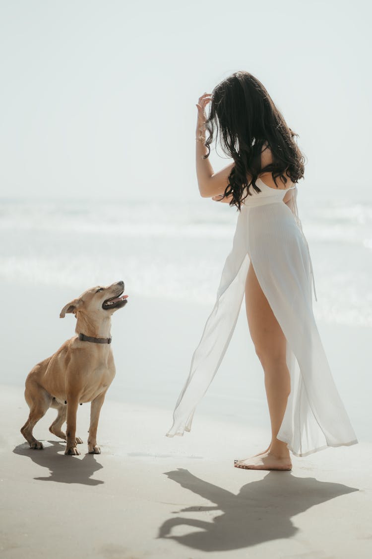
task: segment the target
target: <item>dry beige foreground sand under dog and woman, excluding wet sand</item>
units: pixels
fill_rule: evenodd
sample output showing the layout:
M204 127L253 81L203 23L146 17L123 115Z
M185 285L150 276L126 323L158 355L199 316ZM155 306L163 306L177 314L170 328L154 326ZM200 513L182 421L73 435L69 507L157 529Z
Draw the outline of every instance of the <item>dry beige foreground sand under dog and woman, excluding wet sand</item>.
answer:
M108 401L102 454L86 454L84 405L81 456L67 457L52 411L37 427L44 451L22 441L22 389L2 387L2 411L1 557L371 556L371 444L293 458L292 472L243 471L236 449L258 452L265 430L199 416L168 439L167 411Z

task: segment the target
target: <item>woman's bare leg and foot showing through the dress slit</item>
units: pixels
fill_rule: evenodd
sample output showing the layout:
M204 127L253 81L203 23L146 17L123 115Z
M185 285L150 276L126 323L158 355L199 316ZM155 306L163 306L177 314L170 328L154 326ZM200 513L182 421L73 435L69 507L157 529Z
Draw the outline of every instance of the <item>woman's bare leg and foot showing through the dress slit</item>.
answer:
M235 467L253 470L291 470L292 463L287 444L277 439L291 391L286 362L287 342L259 285L252 262L249 264L245 283L245 306L249 333L264 370L272 439L266 451L239 460L235 463Z

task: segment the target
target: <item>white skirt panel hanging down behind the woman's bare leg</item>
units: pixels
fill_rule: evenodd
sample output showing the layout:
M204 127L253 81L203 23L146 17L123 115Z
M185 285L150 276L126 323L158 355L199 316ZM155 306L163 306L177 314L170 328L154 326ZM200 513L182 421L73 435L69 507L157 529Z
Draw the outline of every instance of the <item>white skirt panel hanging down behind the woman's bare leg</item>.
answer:
M262 225L267 219L274 224L273 229ZM287 340L291 393L277 438L287 443L294 456L307 456L326 447L355 444L357 440L313 315L314 283L308 244L301 227L297 235L287 234L286 219L293 219L286 205L261 206L250 216L247 239L253 238L253 231L262 236L261 244L250 243L250 259Z

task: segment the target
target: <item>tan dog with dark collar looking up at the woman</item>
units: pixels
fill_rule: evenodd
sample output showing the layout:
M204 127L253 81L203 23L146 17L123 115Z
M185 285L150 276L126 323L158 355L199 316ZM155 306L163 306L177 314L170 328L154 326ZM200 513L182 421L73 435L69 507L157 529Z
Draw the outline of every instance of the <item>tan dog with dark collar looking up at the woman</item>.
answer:
M60 314L73 312L77 319L76 336L67 340L51 357L33 367L26 378L25 399L30 415L21 429L31 448L42 449L32 430L48 408L58 410L49 430L65 439L65 454L80 454L76 444L76 411L83 402L91 402L88 451L99 454L96 442L100 409L115 376L111 349L111 316L127 303L124 282L109 287L92 287L67 304ZM67 430L61 430L67 420Z

